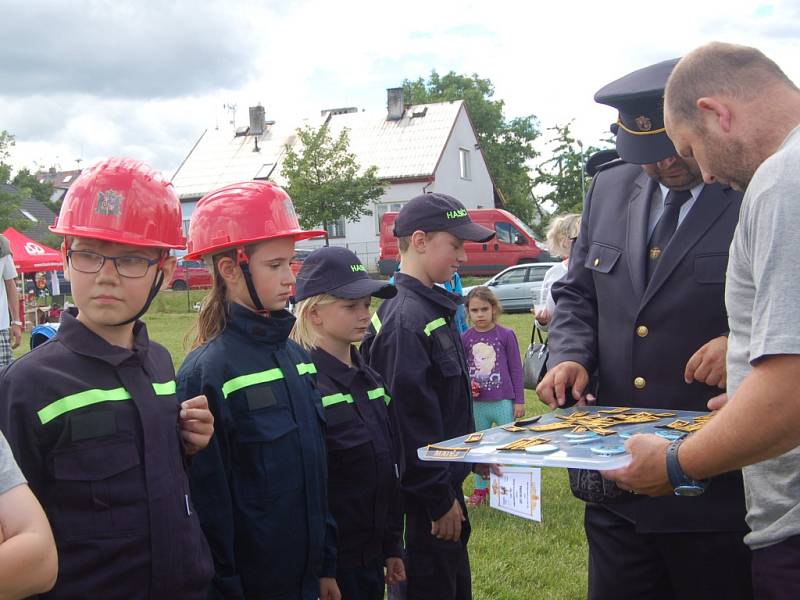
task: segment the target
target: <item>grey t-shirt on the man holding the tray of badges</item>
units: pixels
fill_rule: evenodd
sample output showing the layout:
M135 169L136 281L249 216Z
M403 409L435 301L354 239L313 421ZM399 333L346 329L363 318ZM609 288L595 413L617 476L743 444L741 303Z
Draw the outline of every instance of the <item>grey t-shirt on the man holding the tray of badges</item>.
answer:
M731 243L725 286L728 396L760 358L800 354L800 127L753 176ZM796 389L800 390L800 373ZM786 402L800 402L800 392ZM800 427L800 423L798 423ZM753 549L800 534L800 448L745 467L745 542Z

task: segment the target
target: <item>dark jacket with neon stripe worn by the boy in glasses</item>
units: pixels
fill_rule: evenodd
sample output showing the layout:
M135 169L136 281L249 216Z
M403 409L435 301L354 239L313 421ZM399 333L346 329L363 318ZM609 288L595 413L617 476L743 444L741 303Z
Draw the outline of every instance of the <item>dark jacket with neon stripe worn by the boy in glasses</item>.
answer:
M141 322L112 346L65 313L0 378L0 427L50 519L42 598L200 599L213 575L191 508L169 353Z

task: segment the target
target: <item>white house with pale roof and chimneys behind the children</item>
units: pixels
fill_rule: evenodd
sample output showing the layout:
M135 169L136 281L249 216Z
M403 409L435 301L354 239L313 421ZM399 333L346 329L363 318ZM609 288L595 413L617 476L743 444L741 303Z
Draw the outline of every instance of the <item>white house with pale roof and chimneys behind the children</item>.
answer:
M330 243L347 246L369 269L375 269L378 260L381 216L399 210L414 196L440 192L455 196L467 208L495 206L494 184L462 101L405 105L402 89L394 88L388 90L385 114L348 108L323 111L322 119L333 136L348 129L350 151L358 163L362 168L375 165L384 182L384 194L371 207L372 215L328 227ZM247 128L240 128L238 135L219 130L203 133L172 178L185 222L196 201L217 187L246 179L283 183L283 148L295 143L294 131L301 124L265 125L260 135L250 135ZM253 129L258 127L256 123ZM312 240L303 245L320 243Z

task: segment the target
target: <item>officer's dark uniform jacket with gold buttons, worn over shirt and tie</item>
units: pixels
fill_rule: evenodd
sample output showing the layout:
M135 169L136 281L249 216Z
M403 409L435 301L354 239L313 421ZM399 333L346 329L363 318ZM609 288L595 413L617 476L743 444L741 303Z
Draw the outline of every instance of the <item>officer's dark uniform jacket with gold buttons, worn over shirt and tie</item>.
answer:
M586 196L569 271L553 285L548 365L571 360L599 373L598 403L707 410L722 390L683 379L689 358L726 334L725 270L742 195L706 185L646 279L650 197L640 166L600 171ZM740 472L696 498L629 496L610 505L640 531L744 530Z

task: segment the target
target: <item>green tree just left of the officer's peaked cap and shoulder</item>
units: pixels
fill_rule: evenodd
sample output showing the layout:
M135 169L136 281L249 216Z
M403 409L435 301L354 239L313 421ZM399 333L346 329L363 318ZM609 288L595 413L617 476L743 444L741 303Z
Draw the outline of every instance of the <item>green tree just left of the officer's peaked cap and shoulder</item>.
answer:
M547 140L550 158L536 166L531 193L540 230L546 228L553 214L583 210L583 197L591 183L586 175L586 160L600 149L584 147L572 133L572 121L549 127L547 131L551 132ZM548 205L554 210L548 210Z

